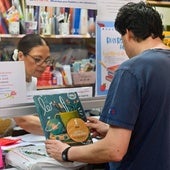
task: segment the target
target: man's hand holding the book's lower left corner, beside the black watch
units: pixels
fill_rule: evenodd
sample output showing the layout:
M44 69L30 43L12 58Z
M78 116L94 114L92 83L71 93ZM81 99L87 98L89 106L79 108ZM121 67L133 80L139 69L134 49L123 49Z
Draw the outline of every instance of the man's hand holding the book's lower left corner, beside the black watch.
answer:
M46 147L46 151L47 154L54 158L57 161L63 161L62 159L62 152L69 147L68 144L63 143L59 140L46 140L45 141L45 147Z

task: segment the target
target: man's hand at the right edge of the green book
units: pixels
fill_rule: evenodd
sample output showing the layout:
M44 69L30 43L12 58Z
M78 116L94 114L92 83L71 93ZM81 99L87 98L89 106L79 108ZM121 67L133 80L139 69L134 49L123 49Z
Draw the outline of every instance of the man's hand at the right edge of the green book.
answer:
M105 137L107 134L107 131L109 129L109 125L106 123L103 123L102 121L98 120L94 117L87 117L87 127L90 128L90 131L92 133L93 137Z

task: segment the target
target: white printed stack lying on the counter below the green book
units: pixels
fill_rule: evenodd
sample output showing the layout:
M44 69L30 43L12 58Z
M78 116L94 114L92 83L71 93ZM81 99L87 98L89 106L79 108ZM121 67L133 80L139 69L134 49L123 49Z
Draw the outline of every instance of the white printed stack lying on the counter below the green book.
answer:
M13 148L6 154L5 162L21 170L78 170L86 165L81 162L59 162L50 158L46 153L45 145Z

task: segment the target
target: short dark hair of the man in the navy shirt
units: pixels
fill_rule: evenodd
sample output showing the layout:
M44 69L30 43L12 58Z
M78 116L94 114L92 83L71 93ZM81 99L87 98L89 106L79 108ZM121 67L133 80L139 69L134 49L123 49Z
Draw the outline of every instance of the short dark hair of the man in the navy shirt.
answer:
M115 29L125 35L126 29L133 32L137 41L153 38L163 38L163 25L159 13L149 4L144 2L129 2L120 8L116 20Z

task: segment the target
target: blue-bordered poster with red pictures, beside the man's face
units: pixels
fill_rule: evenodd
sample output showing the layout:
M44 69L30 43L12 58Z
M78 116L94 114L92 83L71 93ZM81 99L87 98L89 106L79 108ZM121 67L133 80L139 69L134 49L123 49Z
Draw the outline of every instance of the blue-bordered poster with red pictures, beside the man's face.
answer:
M97 21L96 27L96 96L101 96L107 94L114 72L128 57L114 22Z

